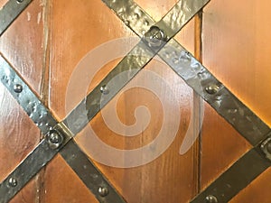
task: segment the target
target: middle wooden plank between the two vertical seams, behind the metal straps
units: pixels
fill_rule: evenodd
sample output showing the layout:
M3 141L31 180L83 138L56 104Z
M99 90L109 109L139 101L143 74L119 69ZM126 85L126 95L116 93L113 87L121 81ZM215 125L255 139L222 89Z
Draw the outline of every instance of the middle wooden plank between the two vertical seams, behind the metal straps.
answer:
M154 14L161 14L162 11L170 9L175 1L164 1L164 4L159 2L141 1L144 8L148 8L150 3L155 5ZM157 15L158 16L158 15ZM75 69L79 60L82 59L89 51L97 48L104 42L117 39L119 37L135 36L126 28L126 25L121 23L115 14L113 14L101 1L53 1L51 13L51 70L50 70L50 106L56 114L63 118L68 112L65 112L65 93L72 71ZM190 51L194 50L194 23L187 25L185 31L180 33L177 38L180 42L185 43ZM131 45L132 42L130 42ZM130 46L129 42L127 46ZM116 47L116 51L117 47ZM106 54L106 53L104 53ZM101 57L103 55L101 54ZM95 75L94 80L89 82L89 91L94 88L98 81L103 78L107 72L114 68L117 64L116 60L108 61L108 63L100 69ZM90 64L91 66L91 64ZM149 71L157 71L157 61L151 62L146 69ZM103 171L108 179L113 182L121 194L130 202L187 202L193 195L195 195L195 184L197 181L194 177L195 170L198 170L196 161L194 160L194 150L191 149L184 155L179 154L180 145L183 137L186 135L186 130L189 125L191 117L190 101L192 100L192 89L188 88L178 78L172 69L164 67L159 69L158 73L164 80L170 84L173 95L177 97L179 111L176 114L181 114L180 127L174 142L164 152L162 156L154 161L131 169L122 169L110 167L105 164L99 164L98 167ZM141 75L141 76L140 76ZM139 74L136 78L144 78L144 74ZM79 78L85 79L85 78ZM133 80L134 81L134 80ZM145 78L144 84L148 82ZM133 82L132 82L133 83ZM134 83L135 84L135 81ZM159 90L159 89L158 89ZM164 97L168 99L168 104L172 97L169 96L169 90L161 89ZM74 92L74 97L70 101L70 110L84 97L85 92ZM113 104L113 103L112 103ZM107 112L110 108L115 108L110 104L105 108ZM118 149L136 149L151 143L163 126L164 116L161 102L158 97L142 88L132 88L126 93L122 94L117 100L117 114L120 120L126 125L132 125L135 122L134 110L135 107L143 105L149 108L152 114L152 120L148 125L146 131L136 134L135 137L123 137L121 134L114 133L109 130L104 122L103 116L98 114L89 126L95 131L103 142L117 147ZM173 119L172 116L171 119ZM126 129L121 129L122 133L126 134ZM170 134L171 132L167 132ZM89 148L89 143L93 142L91 136L84 131L77 137L77 142L85 151L93 151L95 149ZM156 149L158 150L158 149ZM154 149L155 152L155 149ZM99 152L102 153L102 152ZM89 152L89 156L93 157ZM112 154L106 154L109 158ZM141 154L144 156L144 154ZM128 163L129 157L125 153L119 156L119 159ZM112 162L117 160L111 160ZM65 164L58 162L55 168L65 168ZM51 168L46 169L46 173L51 174ZM61 180L70 182L69 175L61 175ZM65 196L67 190L55 191L52 189L54 184L59 184L58 180L49 180L46 185L46 191L51 190L50 194L44 194L46 202L50 202L52 197ZM55 183L54 183L55 182ZM74 187L76 191L77 188ZM86 193L89 196L89 193ZM76 198L69 195L70 199ZM49 200L50 199L50 200Z

